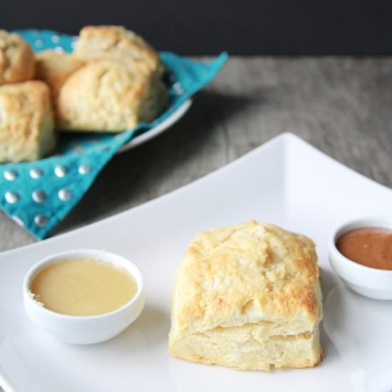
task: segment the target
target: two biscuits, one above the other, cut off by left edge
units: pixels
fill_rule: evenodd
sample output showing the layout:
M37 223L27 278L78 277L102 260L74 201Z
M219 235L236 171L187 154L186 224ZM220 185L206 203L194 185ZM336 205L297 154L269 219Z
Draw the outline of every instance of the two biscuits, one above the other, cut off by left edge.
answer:
M37 160L56 147L48 86L29 43L0 30L0 162Z

